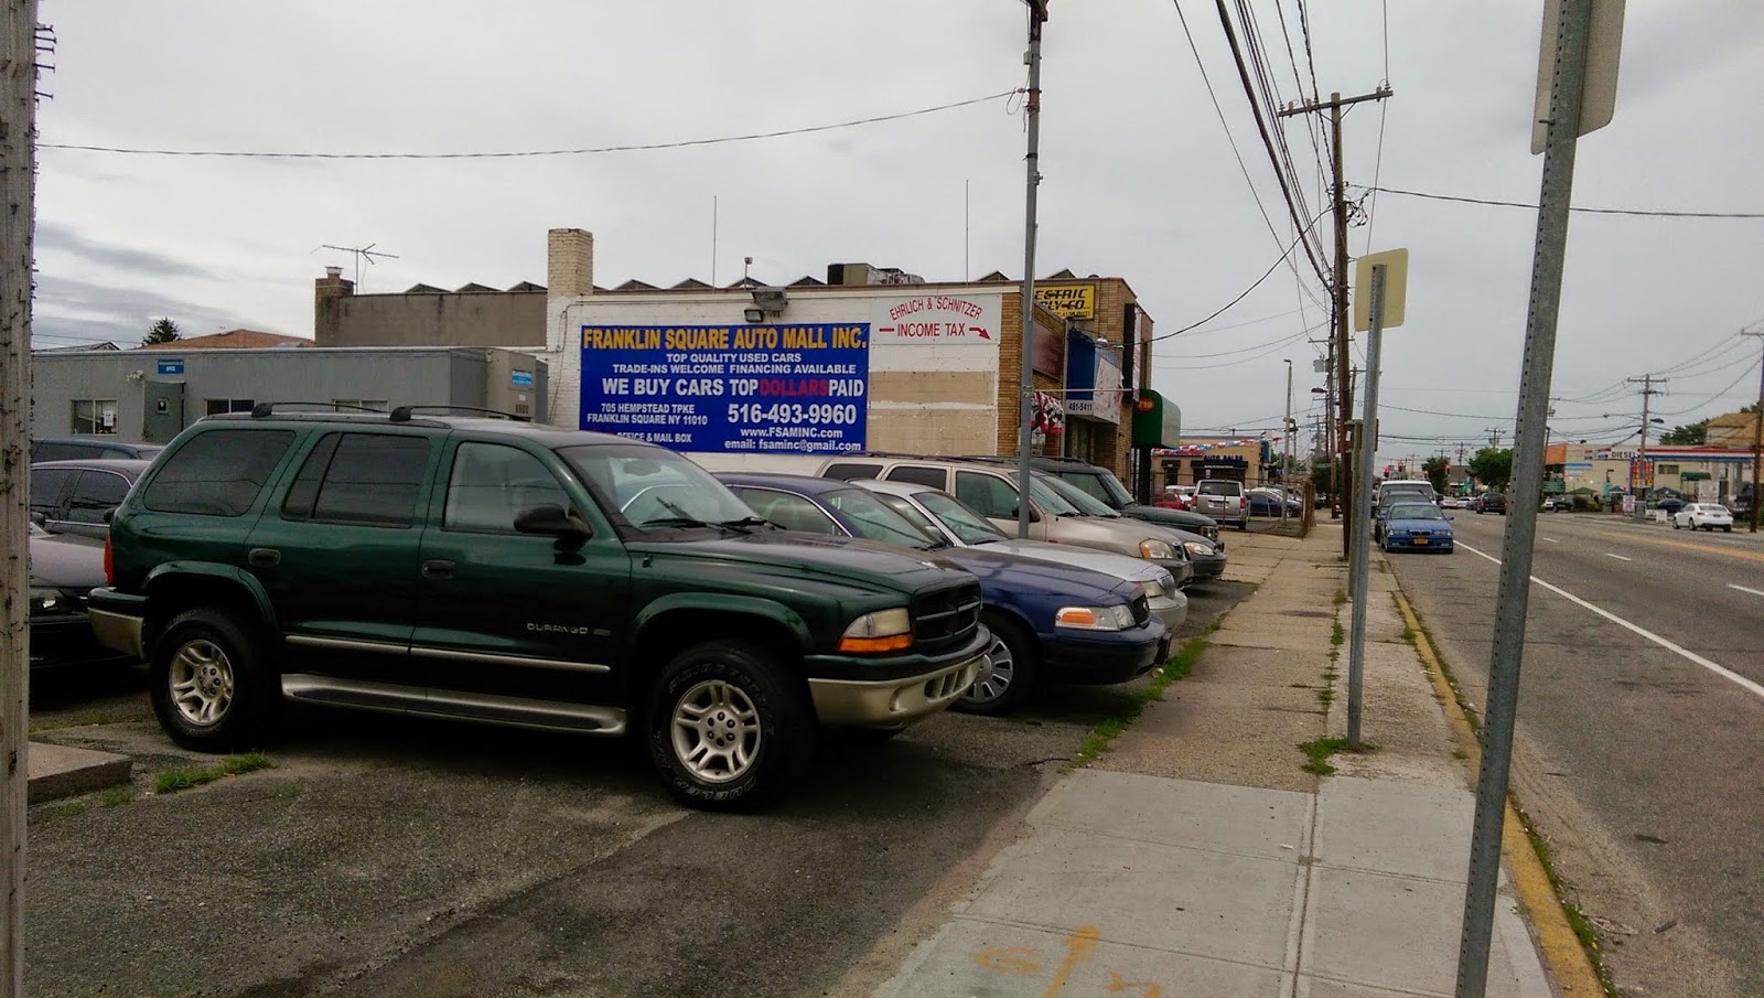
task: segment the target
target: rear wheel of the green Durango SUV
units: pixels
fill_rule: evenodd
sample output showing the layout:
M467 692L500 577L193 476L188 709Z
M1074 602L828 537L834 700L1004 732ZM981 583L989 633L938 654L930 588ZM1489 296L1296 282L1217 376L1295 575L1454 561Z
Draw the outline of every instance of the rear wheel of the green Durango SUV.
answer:
M252 629L224 610L189 610L166 624L148 691L171 741L210 753L261 744L282 705Z

